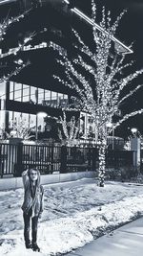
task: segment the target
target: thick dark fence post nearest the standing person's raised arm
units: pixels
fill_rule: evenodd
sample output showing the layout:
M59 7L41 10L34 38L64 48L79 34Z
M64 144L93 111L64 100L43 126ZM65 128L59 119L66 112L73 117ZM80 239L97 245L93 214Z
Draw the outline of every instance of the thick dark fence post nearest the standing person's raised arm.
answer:
M21 176L24 171L24 165L22 163L23 144L20 142L17 144L17 163L14 166L14 176Z

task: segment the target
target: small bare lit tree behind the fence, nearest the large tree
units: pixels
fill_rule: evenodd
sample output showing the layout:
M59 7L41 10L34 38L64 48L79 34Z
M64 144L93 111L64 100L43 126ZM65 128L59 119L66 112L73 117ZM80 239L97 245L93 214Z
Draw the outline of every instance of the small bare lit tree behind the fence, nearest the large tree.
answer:
M66 113L63 111L63 118L60 116L60 124L62 125L62 130L58 130L59 139L61 141L64 140L68 146L72 146L72 142L76 139L79 131L78 121L75 120L74 116L72 116L70 121L67 121Z

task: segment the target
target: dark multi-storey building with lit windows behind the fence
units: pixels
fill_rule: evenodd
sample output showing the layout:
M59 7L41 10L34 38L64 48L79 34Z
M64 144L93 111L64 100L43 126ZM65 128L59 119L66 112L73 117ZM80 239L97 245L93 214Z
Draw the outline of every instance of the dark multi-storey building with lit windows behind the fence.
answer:
M76 12L74 6L69 4L70 1L62 0L7 1L0 10L2 20L10 10L7 26L11 23L0 41L1 66L4 67L1 68L1 77L13 72L10 79L0 85L2 130L9 131L12 122L22 118L26 126L34 131L37 128L44 131L45 120L38 113L59 118L66 110L69 119L73 115L76 118L80 116L83 137L95 137L95 126L90 115L80 112L78 107L78 111L71 107L75 91L53 79L53 74L65 76L56 63L57 52L71 58L75 54L72 26L86 32L91 30L91 19L85 18L82 12ZM19 63L25 66L14 74Z

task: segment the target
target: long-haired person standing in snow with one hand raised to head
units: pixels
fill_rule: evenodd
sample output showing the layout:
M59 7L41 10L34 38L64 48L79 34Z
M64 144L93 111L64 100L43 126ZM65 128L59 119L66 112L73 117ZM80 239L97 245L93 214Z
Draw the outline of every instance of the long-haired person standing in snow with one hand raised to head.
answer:
M37 245L37 225L43 212L44 194L43 187L40 185L40 173L35 168L31 168L22 173L22 178L25 192L22 205L25 244L26 248L40 251ZM32 240L30 240L30 230Z

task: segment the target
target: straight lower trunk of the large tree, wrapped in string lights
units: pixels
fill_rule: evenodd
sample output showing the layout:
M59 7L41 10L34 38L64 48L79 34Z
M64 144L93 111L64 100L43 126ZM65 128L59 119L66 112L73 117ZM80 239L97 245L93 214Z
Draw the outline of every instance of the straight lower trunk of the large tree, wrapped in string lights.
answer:
M104 187L105 177L105 153L106 153L106 141L102 140L99 147L99 169L98 169L98 186Z

